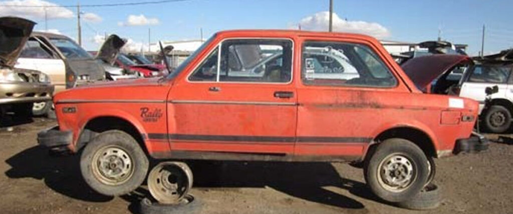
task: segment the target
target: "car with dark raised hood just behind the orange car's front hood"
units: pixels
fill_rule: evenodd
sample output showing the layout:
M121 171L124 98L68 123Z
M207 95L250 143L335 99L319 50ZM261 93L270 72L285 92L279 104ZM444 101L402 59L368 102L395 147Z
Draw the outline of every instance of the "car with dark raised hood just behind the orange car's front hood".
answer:
M125 44L126 40L112 34L107 37L100 50L95 54L94 59L104 67L107 80L133 79L142 76L141 73L130 67L117 64L120 50Z

